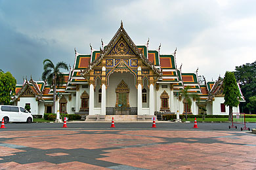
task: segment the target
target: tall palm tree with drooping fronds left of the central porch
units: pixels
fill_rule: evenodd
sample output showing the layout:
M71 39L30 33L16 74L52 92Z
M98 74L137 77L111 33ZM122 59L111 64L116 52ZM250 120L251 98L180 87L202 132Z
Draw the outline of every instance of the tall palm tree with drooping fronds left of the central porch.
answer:
M42 80L46 80L48 84L53 86L53 113L55 113L56 86L60 86L64 82L64 75L60 72L60 69L66 69L68 71L68 65L60 61L55 67L50 59L43 61Z

